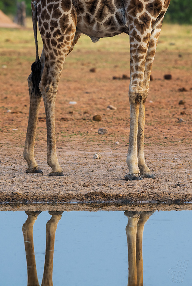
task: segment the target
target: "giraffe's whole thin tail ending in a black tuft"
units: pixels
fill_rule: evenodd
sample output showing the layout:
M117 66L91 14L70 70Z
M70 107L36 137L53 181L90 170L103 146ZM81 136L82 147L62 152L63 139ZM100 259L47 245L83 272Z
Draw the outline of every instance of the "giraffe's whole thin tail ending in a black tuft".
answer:
M32 93L35 92L37 97L41 97L41 91L39 89L39 83L41 81L41 61L39 60L39 52L38 52L38 43L37 43L37 3L36 1L31 2L32 9L32 21L33 21L33 33L35 38L35 50L36 50L36 59L35 62L31 65L32 71L32 82L33 88Z

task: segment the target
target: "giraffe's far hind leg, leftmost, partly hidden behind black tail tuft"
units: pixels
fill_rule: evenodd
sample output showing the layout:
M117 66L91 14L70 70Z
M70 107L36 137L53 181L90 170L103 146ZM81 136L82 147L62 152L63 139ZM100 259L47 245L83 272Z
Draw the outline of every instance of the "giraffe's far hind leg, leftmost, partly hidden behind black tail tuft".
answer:
M43 70L45 61L44 48L42 50L40 61ZM33 91L32 73L28 77L28 85L29 85L30 107L29 107L29 119L28 119L27 135L25 139L23 157L28 163L28 168L26 169L26 173L42 174L42 171L41 169L39 169L34 157L36 126L38 120L39 107L41 103L41 97L35 94L35 90Z

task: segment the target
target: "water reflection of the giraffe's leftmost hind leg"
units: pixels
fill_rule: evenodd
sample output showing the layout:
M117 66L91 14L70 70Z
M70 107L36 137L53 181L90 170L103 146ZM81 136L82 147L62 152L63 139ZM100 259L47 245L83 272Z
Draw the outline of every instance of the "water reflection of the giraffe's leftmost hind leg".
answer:
M27 221L22 227L26 260L27 260L27 285L28 286L39 286L39 281L37 278L36 262L35 262L35 252L33 244L33 225L37 219L37 216L41 211L26 211L28 215Z

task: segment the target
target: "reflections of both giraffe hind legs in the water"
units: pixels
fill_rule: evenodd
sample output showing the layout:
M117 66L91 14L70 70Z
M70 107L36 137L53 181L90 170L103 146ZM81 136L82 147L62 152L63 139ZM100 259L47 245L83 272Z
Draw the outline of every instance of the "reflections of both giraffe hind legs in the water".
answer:
M27 286L39 286L37 278L35 253L33 245L33 225L41 213L41 211L26 211L28 216L27 221L23 225L23 236L25 243L26 259L27 259ZM52 215L51 219L46 224L46 252L45 265L41 286L52 286L52 272L53 272L53 253L55 244L55 232L59 220L63 212L49 211Z

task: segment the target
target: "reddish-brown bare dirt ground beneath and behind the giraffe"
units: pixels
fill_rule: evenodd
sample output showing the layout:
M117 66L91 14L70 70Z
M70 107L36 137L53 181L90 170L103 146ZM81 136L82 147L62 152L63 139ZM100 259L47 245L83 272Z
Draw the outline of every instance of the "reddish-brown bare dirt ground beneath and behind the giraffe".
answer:
M2 48L0 54L4 57L0 67L0 202L192 202L191 53L160 49L156 54L144 142L146 163L157 178L142 181L124 180L128 173L129 80L113 77L129 76L126 51L81 51L77 47L66 61L55 106L57 153L64 177L48 176L43 103L35 145L43 174L25 173L27 76L34 49L21 53ZM92 68L95 72L90 72ZM167 73L172 79L164 79ZM107 109L109 104L117 109ZM96 114L101 121L93 120ZM100 127L107 128L108 134L98 134ZM98 152L102 159L93 159Z

